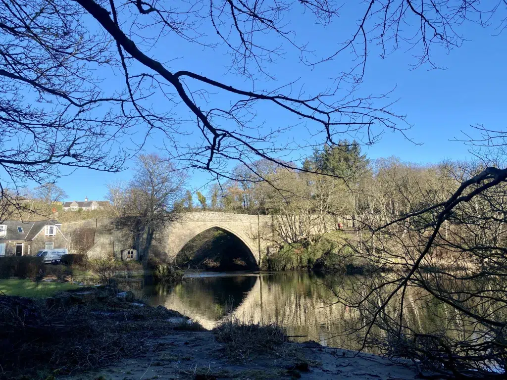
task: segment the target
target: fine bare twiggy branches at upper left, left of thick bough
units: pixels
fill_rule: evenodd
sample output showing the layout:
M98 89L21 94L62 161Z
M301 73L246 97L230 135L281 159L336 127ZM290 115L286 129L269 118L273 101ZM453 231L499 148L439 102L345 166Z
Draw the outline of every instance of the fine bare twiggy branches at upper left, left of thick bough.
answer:
M111 110L122 97L102 97L90 70L111 62L106 39L71 4L7 1L0 13L3 202L18 207L26 181L51 183L63 167L119 170L131 118Z

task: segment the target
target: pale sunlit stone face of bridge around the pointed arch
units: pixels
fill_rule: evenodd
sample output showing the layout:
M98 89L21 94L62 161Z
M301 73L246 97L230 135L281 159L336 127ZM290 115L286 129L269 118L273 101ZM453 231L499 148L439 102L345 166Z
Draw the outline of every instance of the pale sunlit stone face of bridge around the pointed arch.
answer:
M162 249L174 259L194 237L211 228L236 236L250 250L257 264L266 255L269 243L265 239L273 229L271 216L233 214L228 212L191 212L178 214L159 235ZM264 238L263 238L264 237Z

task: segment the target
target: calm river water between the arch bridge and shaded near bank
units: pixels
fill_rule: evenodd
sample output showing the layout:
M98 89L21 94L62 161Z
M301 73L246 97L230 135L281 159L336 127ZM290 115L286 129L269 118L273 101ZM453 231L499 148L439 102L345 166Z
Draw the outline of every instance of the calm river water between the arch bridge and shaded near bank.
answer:
M322 285L326 280L308 272L196 273L171 288L146 287L144 295L151 305L177 310L207 329L232 314L245 322L278 323L297 341L355 349L357 339L344 331L357 311L336 303ZM418 324L430 323L416 317Z

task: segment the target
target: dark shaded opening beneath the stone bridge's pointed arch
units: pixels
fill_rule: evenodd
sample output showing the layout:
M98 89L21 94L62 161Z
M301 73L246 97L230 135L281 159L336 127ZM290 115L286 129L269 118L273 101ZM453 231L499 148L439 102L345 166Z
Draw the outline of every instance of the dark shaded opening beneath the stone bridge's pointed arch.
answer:
M176 263L188 264L206 271L255 271L255 257L235 235L218 227L208 229L192 238L178 252Z

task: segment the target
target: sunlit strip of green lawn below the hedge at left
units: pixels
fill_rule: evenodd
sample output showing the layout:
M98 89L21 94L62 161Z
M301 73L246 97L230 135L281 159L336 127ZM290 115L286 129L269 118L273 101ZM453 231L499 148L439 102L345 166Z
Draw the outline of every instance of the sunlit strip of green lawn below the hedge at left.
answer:
M39 285L30 280L0 280L0 291L6 295L19 295L31 298L50 297L61 290L76 289L79 285L68 282L41 282Z

